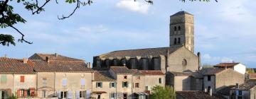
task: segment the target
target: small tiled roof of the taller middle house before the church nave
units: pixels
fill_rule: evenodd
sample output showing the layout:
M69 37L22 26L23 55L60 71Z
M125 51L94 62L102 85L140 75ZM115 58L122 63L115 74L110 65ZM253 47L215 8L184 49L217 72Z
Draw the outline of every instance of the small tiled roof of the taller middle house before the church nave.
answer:
M110 66L110 69L114 71L115 74L133 74L126 66Z

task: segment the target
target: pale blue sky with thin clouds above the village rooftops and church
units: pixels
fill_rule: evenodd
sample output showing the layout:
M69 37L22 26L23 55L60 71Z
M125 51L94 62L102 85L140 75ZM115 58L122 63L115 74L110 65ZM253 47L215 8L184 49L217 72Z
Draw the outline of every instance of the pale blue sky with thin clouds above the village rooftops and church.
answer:
M15 1L11 4L27 21L16 28L33 44L17 42L21 35L1 28L0 34L14 35L16 46L0 46L0 57L58 53L92 62L93 56L114 50L168 47L169 16L187 11L194 15L195 53L201 52L202 64L240 62L256 67L255 0L154 0L154 5L143 0L94 0L61 21L57 16L68 15L74 4L51 1L38 15Z

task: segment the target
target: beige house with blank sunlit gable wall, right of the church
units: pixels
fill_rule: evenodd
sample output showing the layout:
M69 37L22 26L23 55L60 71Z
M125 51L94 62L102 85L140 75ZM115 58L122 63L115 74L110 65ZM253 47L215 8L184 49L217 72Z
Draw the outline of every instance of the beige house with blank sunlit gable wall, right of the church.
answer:
M216 93L222 88L245 81L245 76L233 69L206 68L200 72L203 74L203 89L207 92Z

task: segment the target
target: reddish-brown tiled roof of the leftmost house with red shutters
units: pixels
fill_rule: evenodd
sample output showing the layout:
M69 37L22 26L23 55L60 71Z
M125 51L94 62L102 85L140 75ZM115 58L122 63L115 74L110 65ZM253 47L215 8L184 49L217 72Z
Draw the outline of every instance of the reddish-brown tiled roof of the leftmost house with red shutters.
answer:
M35 72L31 60L23 63L23 59L0 57L0 74L35 74Z

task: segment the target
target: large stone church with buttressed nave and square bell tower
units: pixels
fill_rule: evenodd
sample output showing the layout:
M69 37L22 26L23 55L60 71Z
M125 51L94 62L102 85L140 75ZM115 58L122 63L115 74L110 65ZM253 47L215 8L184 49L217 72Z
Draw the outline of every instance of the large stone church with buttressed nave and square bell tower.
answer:
M170 16L169 47L118 50L93 57L92 69L107 70L110 66L128 69L187 72L198 71L200 53L194 54L193 15L179 11Z

